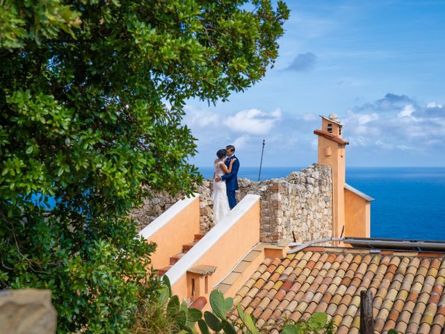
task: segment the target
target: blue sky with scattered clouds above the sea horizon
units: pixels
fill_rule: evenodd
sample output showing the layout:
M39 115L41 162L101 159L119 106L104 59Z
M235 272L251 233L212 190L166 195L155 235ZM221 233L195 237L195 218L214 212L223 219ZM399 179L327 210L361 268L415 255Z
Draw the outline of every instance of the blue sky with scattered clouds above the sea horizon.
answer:
M243 166L316 162L319 115L337 113L348 166L445 166L445 0L287 1L266 78L216 106L190 101L197 166L236 146Z

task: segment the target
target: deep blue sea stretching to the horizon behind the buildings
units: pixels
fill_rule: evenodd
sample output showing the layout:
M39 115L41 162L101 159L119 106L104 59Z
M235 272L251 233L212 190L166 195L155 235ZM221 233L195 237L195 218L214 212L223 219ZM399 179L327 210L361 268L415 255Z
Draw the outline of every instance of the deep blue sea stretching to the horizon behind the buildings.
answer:
M261 180L286 177L300 167L263 167ZM200 168L211 178L213 168ZM258 168L242 167L238 177L258 180ZM445 168L347 168L346 182L375 198L371 237L445 240Z

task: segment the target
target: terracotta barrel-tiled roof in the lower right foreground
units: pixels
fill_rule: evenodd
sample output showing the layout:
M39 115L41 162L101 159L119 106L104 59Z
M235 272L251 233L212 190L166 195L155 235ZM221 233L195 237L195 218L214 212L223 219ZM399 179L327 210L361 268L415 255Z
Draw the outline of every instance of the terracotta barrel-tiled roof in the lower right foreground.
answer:
M278 333L284 319L325 312L337 333L359 333L360 292L373 294L375 332L441 333L445 326L444 254L309 247L266 259L240 289L257 325ZM232 315L234 317L234 315Z

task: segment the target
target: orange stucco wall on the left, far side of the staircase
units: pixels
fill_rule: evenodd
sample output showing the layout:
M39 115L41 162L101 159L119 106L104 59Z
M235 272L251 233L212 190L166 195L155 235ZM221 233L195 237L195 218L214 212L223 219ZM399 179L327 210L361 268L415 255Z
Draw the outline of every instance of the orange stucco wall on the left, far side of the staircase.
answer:
M170 257L181 253L182 245L192 242L199 232L200 198L197 197L148 238L148 241L162 245L151 255L152 266L155 269L168 266Z

